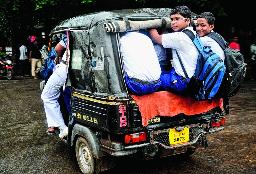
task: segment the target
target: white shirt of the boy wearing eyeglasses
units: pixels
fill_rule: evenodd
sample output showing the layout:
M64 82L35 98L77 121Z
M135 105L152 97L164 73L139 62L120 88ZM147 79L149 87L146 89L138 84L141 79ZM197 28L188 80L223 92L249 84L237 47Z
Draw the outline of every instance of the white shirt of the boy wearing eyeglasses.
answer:
M196 31L193 30L193 27L187 27L185 29L191 30L196 36ZM195 73L199 51L187 34L181 31L163 34L162 45L164 48L173 49L173 63L175 72L180 76L186 77L176 54L175 50L177 50L188 74L188 78L191 78Z

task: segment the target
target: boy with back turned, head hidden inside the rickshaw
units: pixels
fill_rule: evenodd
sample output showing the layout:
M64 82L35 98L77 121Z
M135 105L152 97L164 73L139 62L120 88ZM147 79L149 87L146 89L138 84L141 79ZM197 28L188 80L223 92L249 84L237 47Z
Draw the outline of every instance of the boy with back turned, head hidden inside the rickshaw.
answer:
M145 95L155 92L161 84L161 67L150 38L135 30L125 33L120 43L129 93Z

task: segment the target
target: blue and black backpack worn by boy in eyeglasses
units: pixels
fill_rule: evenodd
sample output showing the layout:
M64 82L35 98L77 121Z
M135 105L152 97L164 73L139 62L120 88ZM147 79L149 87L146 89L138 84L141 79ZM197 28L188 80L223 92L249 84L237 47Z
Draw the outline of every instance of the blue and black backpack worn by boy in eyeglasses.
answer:
M183 32L188 35L199 50L196 70L191 79L188 79L186 70L178 57L186 78L189 80L188 93L198 101L211 99L218 92L226 66L220 56L213 53L209 47L202 45L198 35L195 36L191 30L184 30Z

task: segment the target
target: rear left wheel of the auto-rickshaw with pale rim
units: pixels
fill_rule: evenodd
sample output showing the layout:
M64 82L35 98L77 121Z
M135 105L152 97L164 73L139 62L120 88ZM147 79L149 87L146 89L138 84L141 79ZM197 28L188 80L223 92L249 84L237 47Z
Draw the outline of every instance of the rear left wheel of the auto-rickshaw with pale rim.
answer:
M92 156L92 150L84 137L78 137L76 141L76 156L78 165L84 174L95 173L95 158Z

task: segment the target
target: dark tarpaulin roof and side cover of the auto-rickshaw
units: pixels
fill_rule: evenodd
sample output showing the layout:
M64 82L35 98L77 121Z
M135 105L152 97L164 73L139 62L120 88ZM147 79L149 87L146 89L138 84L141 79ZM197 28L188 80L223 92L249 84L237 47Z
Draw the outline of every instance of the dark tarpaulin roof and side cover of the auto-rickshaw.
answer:
M50 37L68 32L71 92L104 99L129 100L120 54L119 33L170 27L170 8L100 11L60 22ZM197 16L192 13L192 16ZM70 56L70 57L69 57Z

